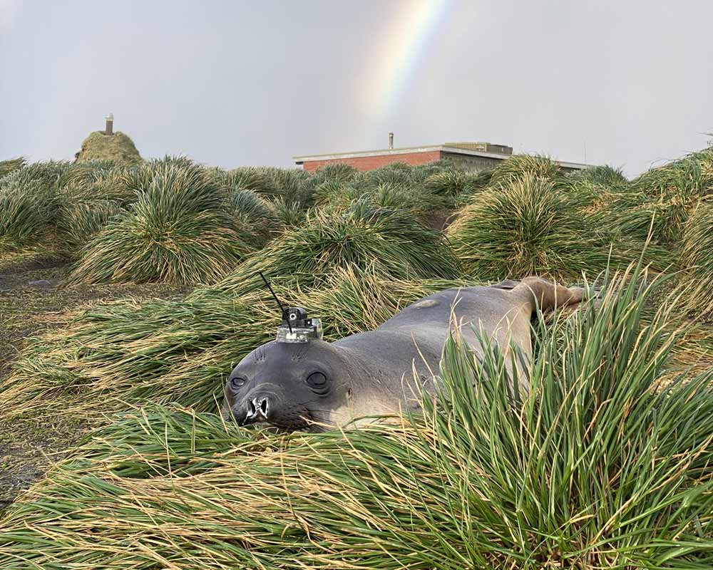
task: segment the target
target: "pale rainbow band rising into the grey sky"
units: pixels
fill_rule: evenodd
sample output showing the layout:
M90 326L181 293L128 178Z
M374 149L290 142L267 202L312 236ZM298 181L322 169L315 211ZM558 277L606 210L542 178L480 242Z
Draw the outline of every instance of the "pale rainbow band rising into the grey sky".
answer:
M389 26L386 41L378 46L383 59L369 70L369 87L361 101L366 117L386 118L404 98L447 7L448 0L414 0L406 14L399 14L398 23Z

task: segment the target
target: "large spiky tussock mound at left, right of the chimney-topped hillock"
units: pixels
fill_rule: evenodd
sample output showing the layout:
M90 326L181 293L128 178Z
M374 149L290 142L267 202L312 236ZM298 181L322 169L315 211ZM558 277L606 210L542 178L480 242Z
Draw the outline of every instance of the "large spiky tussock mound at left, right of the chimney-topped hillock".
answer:
M249 251L222 187L201 167L166 162L134 183L138 199L87 244L71 282L206 283Z

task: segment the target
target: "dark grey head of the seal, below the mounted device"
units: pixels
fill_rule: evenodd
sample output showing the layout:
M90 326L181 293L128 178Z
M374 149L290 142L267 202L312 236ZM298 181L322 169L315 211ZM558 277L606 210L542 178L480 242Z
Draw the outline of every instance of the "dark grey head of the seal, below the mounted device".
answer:
M240 425L270 423L285 430L315 430L342 423L351 393L344 356L321 341L271 342L252 351L230 373L224 415Z

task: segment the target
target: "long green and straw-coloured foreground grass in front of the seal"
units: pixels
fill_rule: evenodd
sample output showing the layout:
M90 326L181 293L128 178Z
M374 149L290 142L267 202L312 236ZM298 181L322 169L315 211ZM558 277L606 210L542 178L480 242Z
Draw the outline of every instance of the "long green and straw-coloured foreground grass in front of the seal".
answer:
M711 378L652 390L668 316L643 325L650 289L628 282L543 338L520 398L495 348L451 341L443 406L396 425L125 414L11 507L0 566L709 567Z

